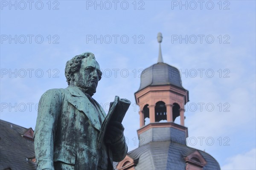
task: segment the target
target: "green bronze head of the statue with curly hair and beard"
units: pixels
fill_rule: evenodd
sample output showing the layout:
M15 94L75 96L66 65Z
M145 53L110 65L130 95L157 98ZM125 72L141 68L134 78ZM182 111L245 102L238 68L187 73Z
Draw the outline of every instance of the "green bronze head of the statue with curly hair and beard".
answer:
M67 61L65 76L68 85L75 85L84 93L93 96L102 72L94 54L85 52Z

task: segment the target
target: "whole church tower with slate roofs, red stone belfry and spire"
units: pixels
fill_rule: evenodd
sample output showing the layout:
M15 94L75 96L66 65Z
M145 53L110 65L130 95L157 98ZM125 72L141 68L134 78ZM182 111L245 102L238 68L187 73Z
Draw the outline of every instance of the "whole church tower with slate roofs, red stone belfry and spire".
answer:
M134 94L140 107L139 147L113 166L116 170L220 170L208 153L186 145L184 106L189 91L182 86L179 70L163 62L162 39L158 33L157 63L142 72Z

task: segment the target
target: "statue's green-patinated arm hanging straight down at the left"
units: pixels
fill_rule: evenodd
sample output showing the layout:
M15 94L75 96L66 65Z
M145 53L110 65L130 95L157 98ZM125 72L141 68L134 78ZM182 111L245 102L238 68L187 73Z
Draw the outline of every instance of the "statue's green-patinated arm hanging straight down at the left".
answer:
M39 101L34 133L37 170L54 170L53 145L60 111L61 95L58 89L46 91Z

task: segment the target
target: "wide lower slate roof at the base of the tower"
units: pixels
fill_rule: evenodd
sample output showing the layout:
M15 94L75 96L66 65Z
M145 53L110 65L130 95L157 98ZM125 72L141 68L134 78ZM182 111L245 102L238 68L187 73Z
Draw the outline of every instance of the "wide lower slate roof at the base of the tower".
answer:
M136 170L185 170L184 158L196 149L184 144L161 141L149 142L127 153L129 157L137 161ZM208 153L198 150L207 161L203 170L220 170L218 162ZM114 163L116 167L117 163Z

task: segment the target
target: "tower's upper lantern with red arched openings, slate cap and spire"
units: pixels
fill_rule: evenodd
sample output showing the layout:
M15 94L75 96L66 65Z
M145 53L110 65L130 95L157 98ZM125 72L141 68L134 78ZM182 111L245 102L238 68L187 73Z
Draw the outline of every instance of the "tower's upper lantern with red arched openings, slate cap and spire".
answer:
M163 62L162 34L157 34L159 54L157 63L141 74L140 88L135 93L140 106L140 142L172 139L186 144L188 130L184 126L184 105L189 102L189 91L183 88L177 68ZM180 118L179 123L174 123ZM146 119L149 119L147 124ZM176 121L177 122L177 121Z

